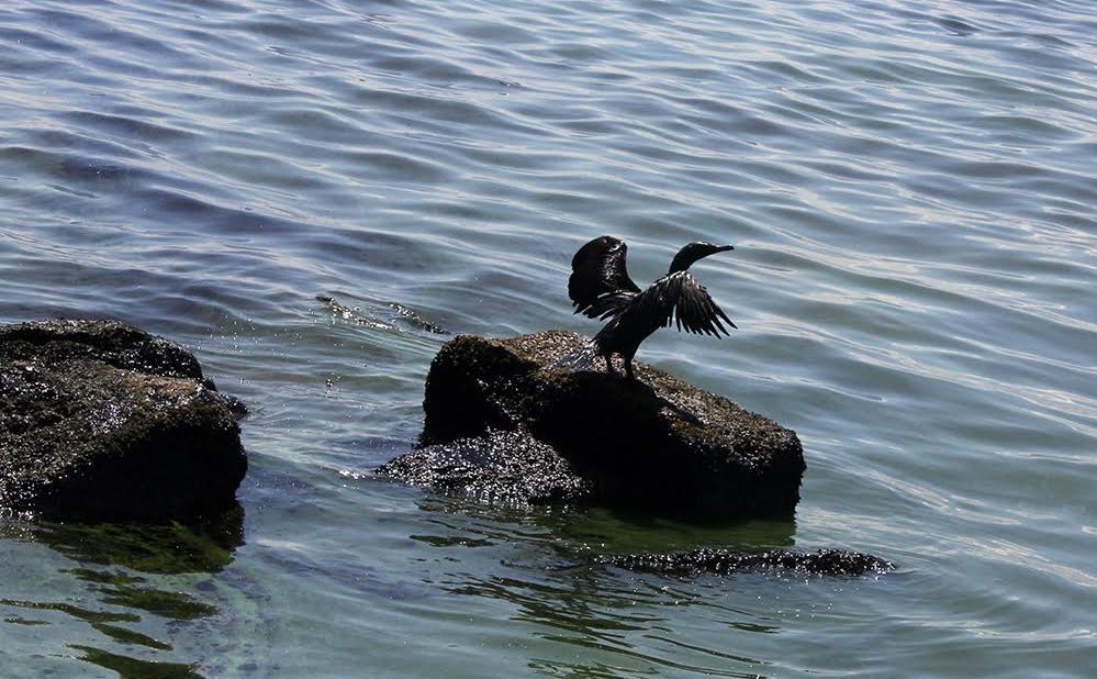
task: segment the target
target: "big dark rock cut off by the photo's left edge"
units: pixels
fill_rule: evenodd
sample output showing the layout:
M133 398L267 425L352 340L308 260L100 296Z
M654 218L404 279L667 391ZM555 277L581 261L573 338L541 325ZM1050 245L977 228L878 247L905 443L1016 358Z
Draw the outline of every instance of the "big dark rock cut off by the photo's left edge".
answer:
M224 509L239 403L192 354L114 321L0 327L0 510L163 520Z

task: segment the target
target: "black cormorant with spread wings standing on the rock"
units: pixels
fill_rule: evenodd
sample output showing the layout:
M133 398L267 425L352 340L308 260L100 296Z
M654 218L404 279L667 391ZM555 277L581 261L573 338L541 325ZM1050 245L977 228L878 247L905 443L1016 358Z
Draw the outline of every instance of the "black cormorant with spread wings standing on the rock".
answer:
M689 268L697 259L715 253L735 249L730 245L691 243L680 249L671 261L665 276L648 286L642 292L628 277L625 255L628 247L613 236L594 238L579 248L571 260L568 296L575 305L575 313L592 319L609 319L594 335L594 349L606 360L613 372L612 354L625 359L625 372L633 375L633 356L648 335L673 321L678 329L691 333L718 337L730 335L720 323L736 324L716 305L705 287L690 275Z

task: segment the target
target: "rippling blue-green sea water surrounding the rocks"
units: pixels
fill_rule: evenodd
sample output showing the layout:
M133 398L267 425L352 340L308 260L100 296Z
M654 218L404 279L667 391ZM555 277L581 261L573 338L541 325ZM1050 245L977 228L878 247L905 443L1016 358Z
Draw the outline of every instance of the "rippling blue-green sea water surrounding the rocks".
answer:
M0 675L1092 676L1095 36L1087 0L9 0L0 321L125 320L255 414L216 525L3 524ZM593 334L603 233L641 281L736 245L696 274L741 330L639 358L798 432L795 520L368 475L416 320ZM900 569L577 565L701 545Z

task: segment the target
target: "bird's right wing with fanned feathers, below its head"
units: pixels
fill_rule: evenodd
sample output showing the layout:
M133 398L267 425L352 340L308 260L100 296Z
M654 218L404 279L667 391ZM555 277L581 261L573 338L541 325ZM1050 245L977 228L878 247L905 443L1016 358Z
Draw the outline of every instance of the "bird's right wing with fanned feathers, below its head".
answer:
M670 327L673 322L680 331L698 335L730 335L724 323L737 327L689 271L663 276L651 283L636 296L627 313L636 313L662 327Z

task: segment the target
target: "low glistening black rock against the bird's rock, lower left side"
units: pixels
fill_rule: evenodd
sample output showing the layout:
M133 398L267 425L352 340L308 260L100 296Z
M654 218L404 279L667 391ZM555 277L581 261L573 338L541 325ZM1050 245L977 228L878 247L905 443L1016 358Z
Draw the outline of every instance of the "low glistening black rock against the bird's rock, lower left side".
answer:
M490 432L425 446L378 469L413 486L457 491L491 503L573 503L590 483L556 450L520 432Z

